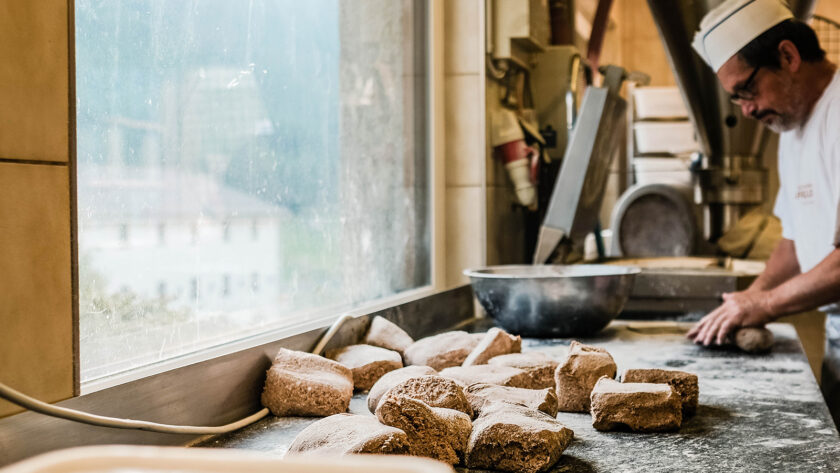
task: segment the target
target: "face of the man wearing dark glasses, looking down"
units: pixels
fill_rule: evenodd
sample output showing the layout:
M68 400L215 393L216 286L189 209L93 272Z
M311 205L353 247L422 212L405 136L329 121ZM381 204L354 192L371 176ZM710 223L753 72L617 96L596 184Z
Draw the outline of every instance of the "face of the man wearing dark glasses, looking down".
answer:
M771 130L791 130L804 120L799 110L802 101L784 67L750 67L736 54L721 66L717 76L744 116L761 121Z

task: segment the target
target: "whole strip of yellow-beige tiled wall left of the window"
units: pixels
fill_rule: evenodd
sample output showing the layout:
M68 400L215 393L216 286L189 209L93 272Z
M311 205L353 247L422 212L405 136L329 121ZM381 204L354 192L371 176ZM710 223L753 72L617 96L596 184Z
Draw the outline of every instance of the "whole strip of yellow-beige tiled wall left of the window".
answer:
M68 24L67 0L0 2L0 381L45 401L75 387Z

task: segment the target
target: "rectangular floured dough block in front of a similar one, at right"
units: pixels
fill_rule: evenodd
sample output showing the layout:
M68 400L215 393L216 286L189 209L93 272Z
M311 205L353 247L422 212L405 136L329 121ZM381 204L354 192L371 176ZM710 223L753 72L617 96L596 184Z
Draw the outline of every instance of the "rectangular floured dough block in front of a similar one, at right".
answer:
M667 432L682 423L680 396L667 384L619 383L606 376L592 390L592 426Z

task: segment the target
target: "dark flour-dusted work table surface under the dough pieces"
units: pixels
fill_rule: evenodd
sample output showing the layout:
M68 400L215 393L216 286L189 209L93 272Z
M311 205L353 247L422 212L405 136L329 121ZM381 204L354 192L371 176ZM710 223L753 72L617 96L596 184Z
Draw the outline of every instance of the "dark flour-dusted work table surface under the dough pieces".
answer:
M476 320L481 332L492 321ZM621 374L629 368L663 368L698 375L700 406L679 432L598 432L589 414L558 414L575 440L552 472L840 471L840 437L811 373L793 326L771 324L773 351L748 355L703 348L685 339L691 324L615 321L581 342L607 349ZM561 358L569 339L524 339L523 351ZM366 394L350 412L371 415ZM241 448L283 455L315 418L270 416L198 446ZM469 470L476 471L476 470Z

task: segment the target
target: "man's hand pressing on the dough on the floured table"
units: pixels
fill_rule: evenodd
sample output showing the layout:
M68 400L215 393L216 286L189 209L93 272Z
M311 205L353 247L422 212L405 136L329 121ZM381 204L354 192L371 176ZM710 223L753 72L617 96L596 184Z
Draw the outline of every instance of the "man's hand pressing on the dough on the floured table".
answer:
M694 343L722 345L740 327L761 326L772 320L768 291L741 291L723 295L723 304L703 317L686 335Z

